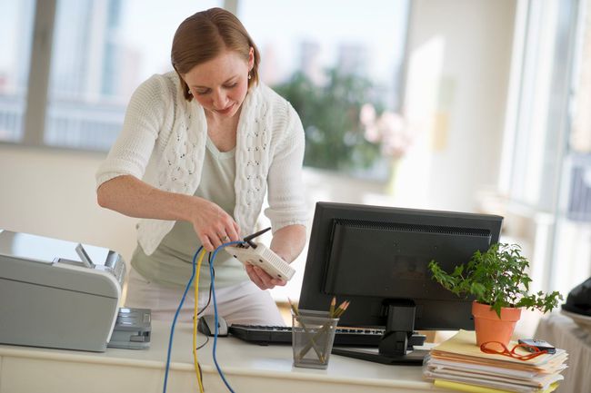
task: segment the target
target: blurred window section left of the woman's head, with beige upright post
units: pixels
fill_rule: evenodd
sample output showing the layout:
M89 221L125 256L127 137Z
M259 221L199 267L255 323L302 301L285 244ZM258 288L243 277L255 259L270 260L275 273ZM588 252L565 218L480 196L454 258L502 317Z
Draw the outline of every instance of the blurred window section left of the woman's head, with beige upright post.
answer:
M157 0L0 3L0 141L108 150L135 87L151 74L172 70L176 27L188 15L220 5L221 0L198 6L171 0L165 7ZM34 28L39 34L32 43ZM33 62L31 45L41 48ZM31 83L29 64L35 67Z

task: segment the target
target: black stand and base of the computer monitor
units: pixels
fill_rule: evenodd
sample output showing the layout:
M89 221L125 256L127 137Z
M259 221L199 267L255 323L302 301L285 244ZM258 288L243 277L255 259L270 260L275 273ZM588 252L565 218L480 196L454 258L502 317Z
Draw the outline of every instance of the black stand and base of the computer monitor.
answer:
M386 303L386 330L377 351L368 349L340 349L335 348L331 353L355 359L374 361L392 365L423 364L423 359L429 353L425 349L414 349L414 345L421 345L424 339L416 342L414 336L415 311L414 301L388 300Z

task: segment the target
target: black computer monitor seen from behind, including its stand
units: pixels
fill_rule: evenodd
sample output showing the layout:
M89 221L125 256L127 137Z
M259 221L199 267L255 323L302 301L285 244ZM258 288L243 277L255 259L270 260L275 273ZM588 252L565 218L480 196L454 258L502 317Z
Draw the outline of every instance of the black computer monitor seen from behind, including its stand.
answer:
M472 299L432 280L429 261L447 271L486 251L503 217L334 202L316 203L300 309L350 300L339 326L385 329L378 352L333 353L386 364L420 364L415 330L474 329Z

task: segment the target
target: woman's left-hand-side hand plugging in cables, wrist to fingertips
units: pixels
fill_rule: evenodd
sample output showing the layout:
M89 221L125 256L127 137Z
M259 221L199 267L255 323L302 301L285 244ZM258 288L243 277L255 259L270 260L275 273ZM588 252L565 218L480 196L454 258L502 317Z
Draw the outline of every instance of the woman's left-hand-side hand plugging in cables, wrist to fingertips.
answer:
M206 251L215 251L228 241L240 241L240 227L232 216L212 201L194 198L190 221Z

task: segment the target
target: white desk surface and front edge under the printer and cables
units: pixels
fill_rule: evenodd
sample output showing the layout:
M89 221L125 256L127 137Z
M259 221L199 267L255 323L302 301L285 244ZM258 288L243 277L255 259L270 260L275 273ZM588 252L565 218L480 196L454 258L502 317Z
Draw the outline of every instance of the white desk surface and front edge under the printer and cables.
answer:
M170 326L153 321L150 349L92 353L0 345L0 393L161 392ZM167 392L198 391L192 326L178 324ZM205 337L198 336L199 343ZM207 393L227 389L212 358L213 338L198 352ZM386 366L333 355L326 370L293 368L290 346L217 340L217 361L235 392L432 392L416 366Z

